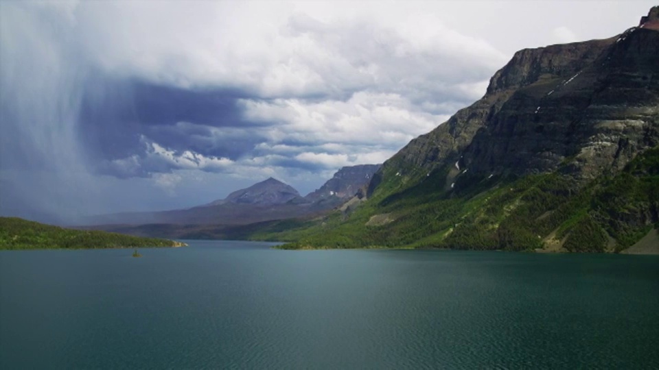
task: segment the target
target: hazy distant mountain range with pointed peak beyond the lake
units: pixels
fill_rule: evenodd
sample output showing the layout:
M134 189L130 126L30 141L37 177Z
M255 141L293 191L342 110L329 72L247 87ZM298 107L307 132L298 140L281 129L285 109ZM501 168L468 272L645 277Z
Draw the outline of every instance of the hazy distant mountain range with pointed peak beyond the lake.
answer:
M118 230L115 226L108 226L117 224L244 225L319 214L340 206L360 189L365 193L367 184L378 169L379 164L343 167L321 188L305 197L292 186L270 177L203 206L162 212L104 214L91 217L88 224L105 225L100 227L103 230Z

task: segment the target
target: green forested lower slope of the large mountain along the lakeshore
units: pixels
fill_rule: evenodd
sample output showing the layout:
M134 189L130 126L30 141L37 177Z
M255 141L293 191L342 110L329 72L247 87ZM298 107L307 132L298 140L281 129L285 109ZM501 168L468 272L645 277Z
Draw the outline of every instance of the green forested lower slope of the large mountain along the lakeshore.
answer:
M559 169L522 178L465 174L446 189L449 170L385 174L354 212L336 211L289 230L270 225L251 238L291 242L282 248L532 250L553 243L602 252L621 251L658 227L659 147L586 186ZM369 222L372 217L391 222Z

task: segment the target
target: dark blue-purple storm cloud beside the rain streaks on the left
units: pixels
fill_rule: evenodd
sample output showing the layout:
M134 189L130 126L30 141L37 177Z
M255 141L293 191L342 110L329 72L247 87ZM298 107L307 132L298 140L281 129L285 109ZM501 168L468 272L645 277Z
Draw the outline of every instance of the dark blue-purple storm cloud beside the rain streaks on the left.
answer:
M263 140L250 129L263 130L268 125L242 119L236 101L244 97L236 91L196 91L97 75L85 89L79 135L102 163L131 156L143 160L148 149L145 138L176 153L191 150L235 160ZM113 173L107 166L99 168ZM152 162L140 168L135 175L172 169Z

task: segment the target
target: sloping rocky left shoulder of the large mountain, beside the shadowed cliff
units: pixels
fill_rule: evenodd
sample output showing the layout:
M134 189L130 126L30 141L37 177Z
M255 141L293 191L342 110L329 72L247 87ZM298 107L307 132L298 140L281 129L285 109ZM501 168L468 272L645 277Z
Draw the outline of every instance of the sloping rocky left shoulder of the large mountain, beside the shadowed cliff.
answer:
M450 163L455 168L452 175L457 175L465 167L463 152L472 145L476 134L485 138L483 130L487 130L487 126L492 125L494 121L506 120L505 116L511 116L507 118L509 122L525 123L528 117L518 116L516 109L519 106L531 110L531 120L535 120L537 103L531 101L533 97L542 99L553 95L558 86L592 64L614 42L615 38L610 38L518 51L510 62L490 79L487 93L482 99L459 110L432 132L415 138L386 161L382 171L375 175L369 193L375 190L382 177L386 176L385 173L390 177L393 173L402 173L401 180L405 180L405 175L414 177L419 173L427 174ZM523 88L527 88L527 93L520 93ZM504 112L500 112L502 109ZM565 111L564 115L568 116L570 113ZM510 132L503 130L500 134L508 135ZM494 151L502 151L505 150L505 145L493 143L491 148ZM535 163L529 165L534 166Z

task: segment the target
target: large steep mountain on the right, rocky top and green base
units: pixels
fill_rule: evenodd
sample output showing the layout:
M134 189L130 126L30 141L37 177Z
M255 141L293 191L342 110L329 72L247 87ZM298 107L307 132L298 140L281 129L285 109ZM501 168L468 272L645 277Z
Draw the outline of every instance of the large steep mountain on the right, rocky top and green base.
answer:
M259 237L294 241L287 247L634 250L642 239L659 245L658 164L654 7L612 38L518 51L482 99L384 162L351 213Z

